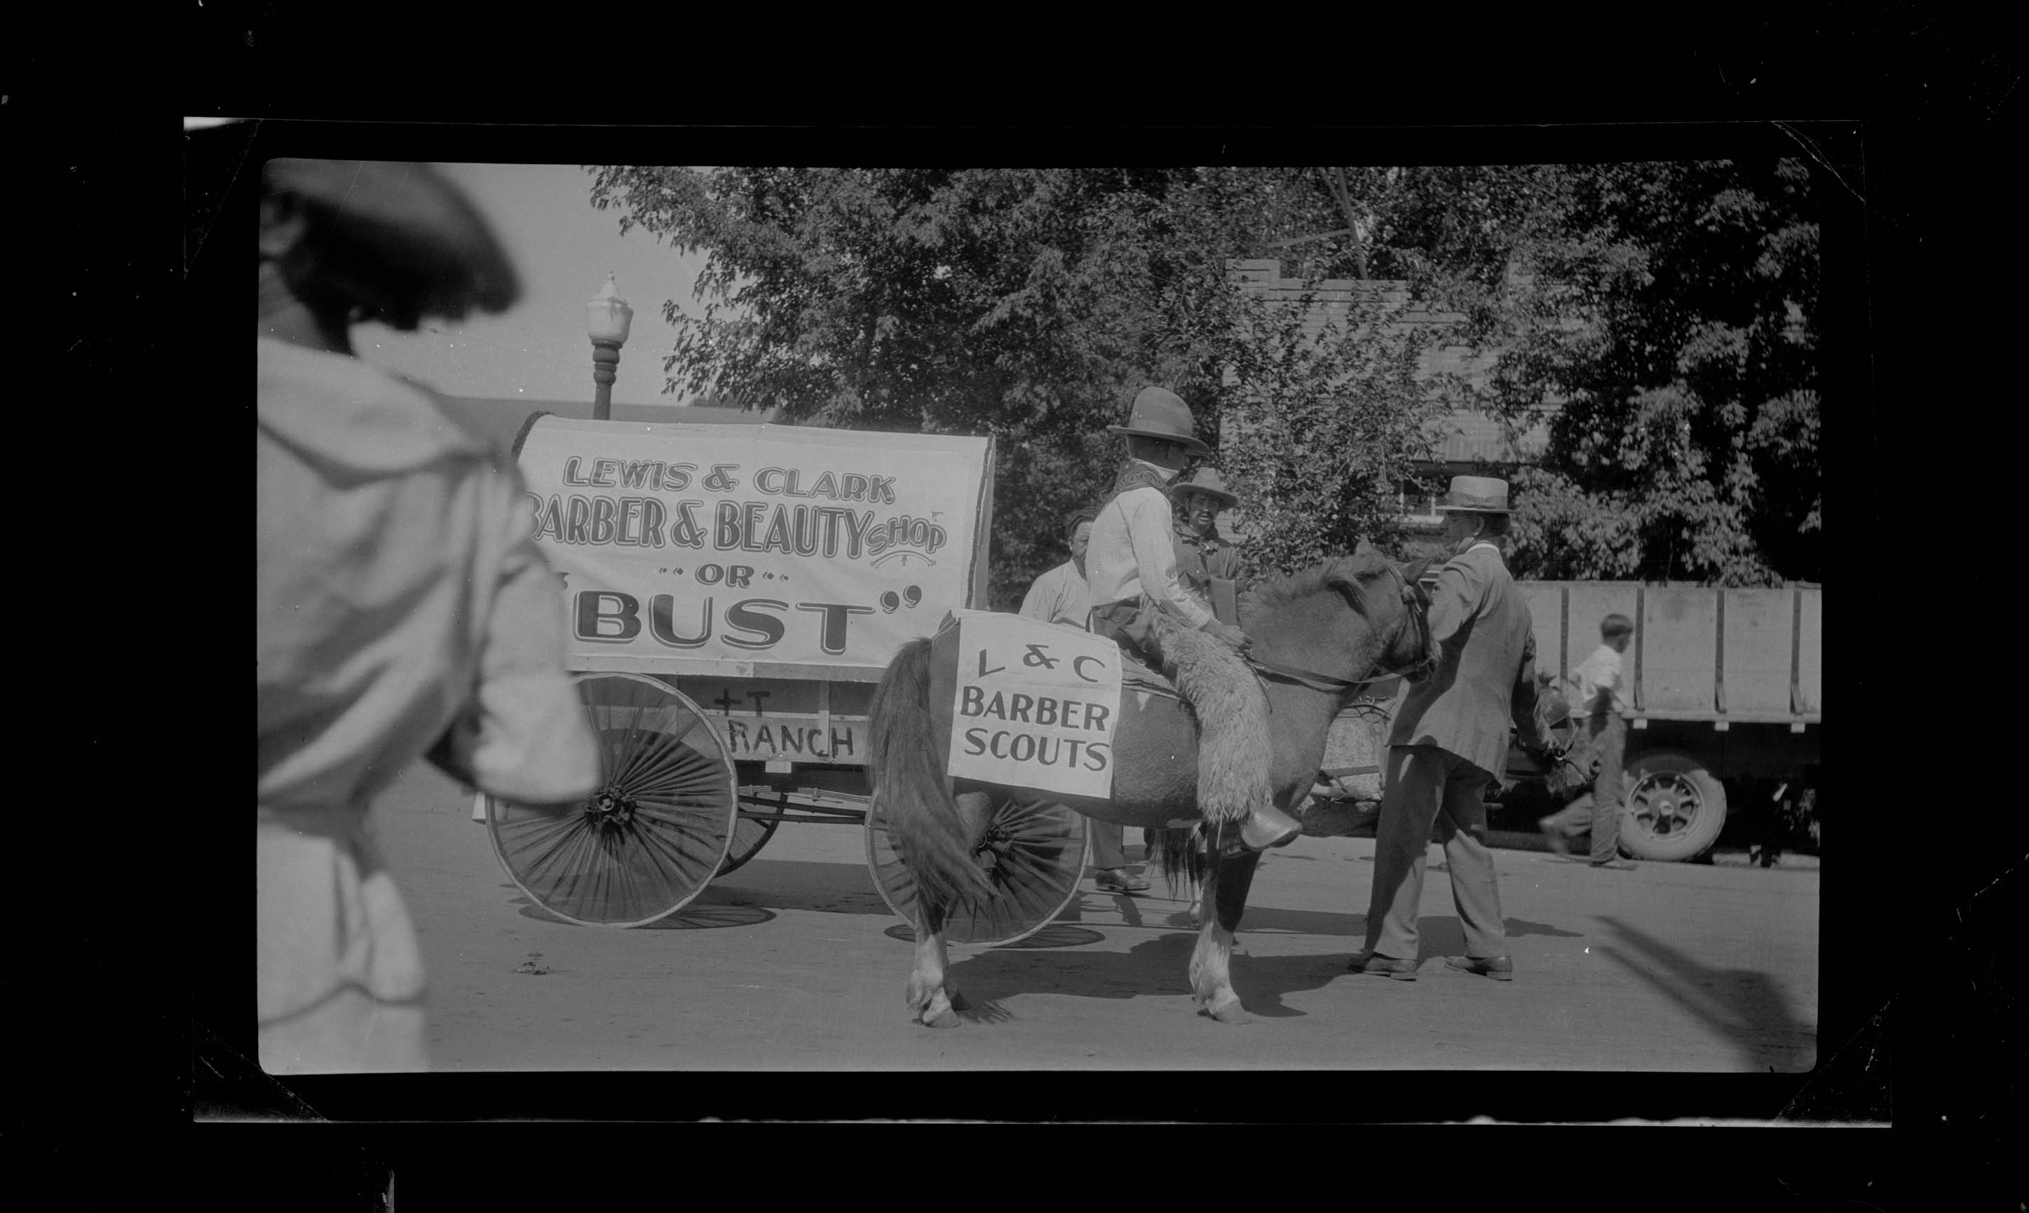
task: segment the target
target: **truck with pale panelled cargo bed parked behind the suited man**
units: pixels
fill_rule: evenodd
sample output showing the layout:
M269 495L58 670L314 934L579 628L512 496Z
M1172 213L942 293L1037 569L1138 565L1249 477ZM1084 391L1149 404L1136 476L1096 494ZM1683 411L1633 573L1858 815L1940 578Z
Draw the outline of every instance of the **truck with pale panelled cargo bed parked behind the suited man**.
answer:
M1599 621L1607 615L1635 623L1621 657L1629 706L1621 779L1625 854L1678 862L1706 858L1729 809L1753 809L1773 826L1763 834L1763 864L1788 832L1816 834L1824 742L1822 586L1516 584L1530 604L1540 673L1562 677L1585 661L1599 647ZM1325 783L1339 797L1370 805L1380 797L1378 763L1400 696L1400 686L1376 688L1370 700L1339 716L1325 755ZM1493 817L1548 811L1542 783L1544 769L1512 746Z

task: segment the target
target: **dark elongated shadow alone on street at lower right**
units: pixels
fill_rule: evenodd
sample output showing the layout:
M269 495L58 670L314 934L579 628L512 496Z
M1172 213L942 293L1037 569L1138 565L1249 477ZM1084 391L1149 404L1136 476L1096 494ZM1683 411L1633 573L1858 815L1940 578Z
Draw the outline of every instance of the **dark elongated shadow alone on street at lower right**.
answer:
M1599 951L1733 1041L1747 1069L1804 1073L1818 1063L1818 1032L1790 1012L1790 998L1767 974L1719 970L1627 923L1599 915L1617 943Z

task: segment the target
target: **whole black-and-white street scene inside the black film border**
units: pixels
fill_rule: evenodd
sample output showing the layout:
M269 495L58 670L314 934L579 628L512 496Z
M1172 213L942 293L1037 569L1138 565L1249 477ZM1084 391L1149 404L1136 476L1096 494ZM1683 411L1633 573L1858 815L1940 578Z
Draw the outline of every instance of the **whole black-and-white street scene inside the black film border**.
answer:
M1335 150L250 160L260 1069L1818 1067L1836 170Z

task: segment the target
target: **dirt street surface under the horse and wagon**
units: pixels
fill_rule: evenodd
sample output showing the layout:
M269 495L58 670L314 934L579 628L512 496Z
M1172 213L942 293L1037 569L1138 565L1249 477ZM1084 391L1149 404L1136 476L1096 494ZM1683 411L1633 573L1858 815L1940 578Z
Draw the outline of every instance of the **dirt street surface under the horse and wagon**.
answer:
M1185 905L1086 893L1000 949L954 947L976 1018L909 1022L907 927L864 834L783 826L741 870L643 929L562 923L493 858L471 799L426 767L377 809L422 935L442 1071L586 1069L1579 1069L1808 1071L1818 1049L1818 872L1591 870L1501 850L1516 980L1463 951L1432 848L1416 982L1347 974L1372 840L1303 838L1254 880L1234 986L1256 1016L1195 1014ZM1130 858L1138 856L1128 832ZM1185 1053L1187 1051L1187 1053Z

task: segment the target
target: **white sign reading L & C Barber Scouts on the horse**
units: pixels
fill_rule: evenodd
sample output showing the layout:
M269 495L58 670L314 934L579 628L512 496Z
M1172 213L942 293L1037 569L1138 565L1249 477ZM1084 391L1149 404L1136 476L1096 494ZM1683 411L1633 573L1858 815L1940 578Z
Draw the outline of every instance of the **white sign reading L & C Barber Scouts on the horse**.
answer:
M958 615L946 771L1106 799L1114 789L1120 645L1021 615Z

